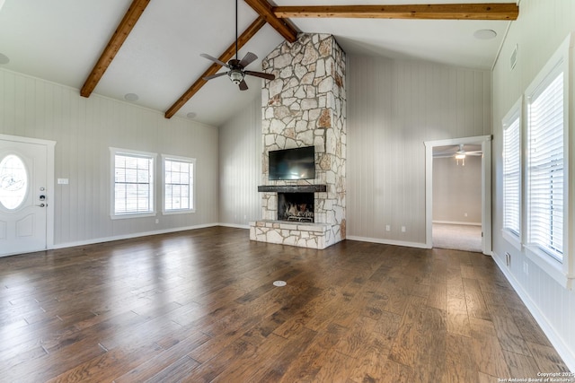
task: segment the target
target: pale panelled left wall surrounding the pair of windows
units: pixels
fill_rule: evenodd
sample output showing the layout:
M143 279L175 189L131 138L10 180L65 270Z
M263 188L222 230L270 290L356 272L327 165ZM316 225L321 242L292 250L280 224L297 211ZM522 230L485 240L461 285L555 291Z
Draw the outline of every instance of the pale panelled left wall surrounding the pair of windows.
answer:
M57 142L57 247L217 223L215 127L0 70L0 133ZM196 213L112 221L110 146L196 158Z

